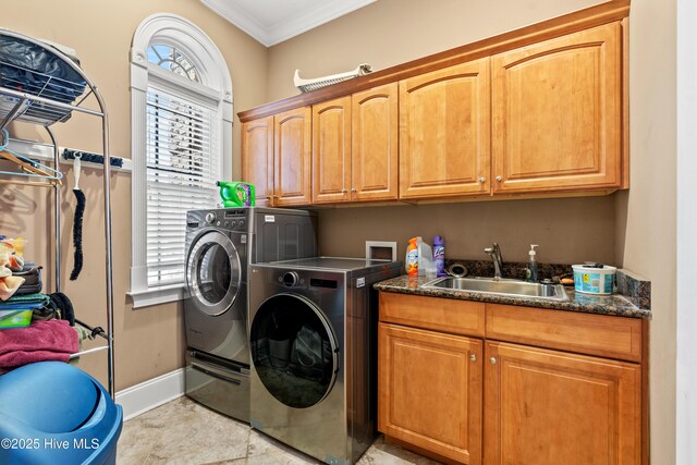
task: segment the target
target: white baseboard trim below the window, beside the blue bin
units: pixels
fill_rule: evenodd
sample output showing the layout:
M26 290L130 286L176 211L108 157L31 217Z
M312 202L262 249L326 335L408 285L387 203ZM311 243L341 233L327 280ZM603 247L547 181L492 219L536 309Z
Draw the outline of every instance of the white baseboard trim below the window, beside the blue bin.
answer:
M184 395L184 368L117 392L117 404L127 420Z

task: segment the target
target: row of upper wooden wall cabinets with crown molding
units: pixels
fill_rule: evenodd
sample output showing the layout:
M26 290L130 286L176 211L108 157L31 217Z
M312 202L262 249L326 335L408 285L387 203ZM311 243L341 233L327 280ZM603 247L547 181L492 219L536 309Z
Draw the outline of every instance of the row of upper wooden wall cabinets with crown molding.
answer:
M628 15L603 2L243 111L243 176L288 206L627 188Z

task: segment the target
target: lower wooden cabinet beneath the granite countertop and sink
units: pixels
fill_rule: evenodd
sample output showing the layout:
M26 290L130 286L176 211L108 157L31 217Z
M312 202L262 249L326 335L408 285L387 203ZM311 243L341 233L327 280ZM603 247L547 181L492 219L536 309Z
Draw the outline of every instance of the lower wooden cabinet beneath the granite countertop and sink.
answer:
M378 429L447 462L647 464L646 321L564 314L381 292Z

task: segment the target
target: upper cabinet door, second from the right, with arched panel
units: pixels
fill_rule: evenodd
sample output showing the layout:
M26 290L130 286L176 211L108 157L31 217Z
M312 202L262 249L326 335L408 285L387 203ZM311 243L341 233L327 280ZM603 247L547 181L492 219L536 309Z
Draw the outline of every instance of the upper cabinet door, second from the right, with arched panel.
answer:
M489 194L489 59L400 82L400 197Z

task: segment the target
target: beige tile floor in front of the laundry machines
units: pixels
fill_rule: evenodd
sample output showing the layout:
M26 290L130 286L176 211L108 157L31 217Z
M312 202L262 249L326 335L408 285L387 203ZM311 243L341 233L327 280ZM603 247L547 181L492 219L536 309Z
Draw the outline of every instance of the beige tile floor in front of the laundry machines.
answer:
M379 438L360 465L430 465L437 462ZM319 464L314 458L183 396L123 425L118 465Z

